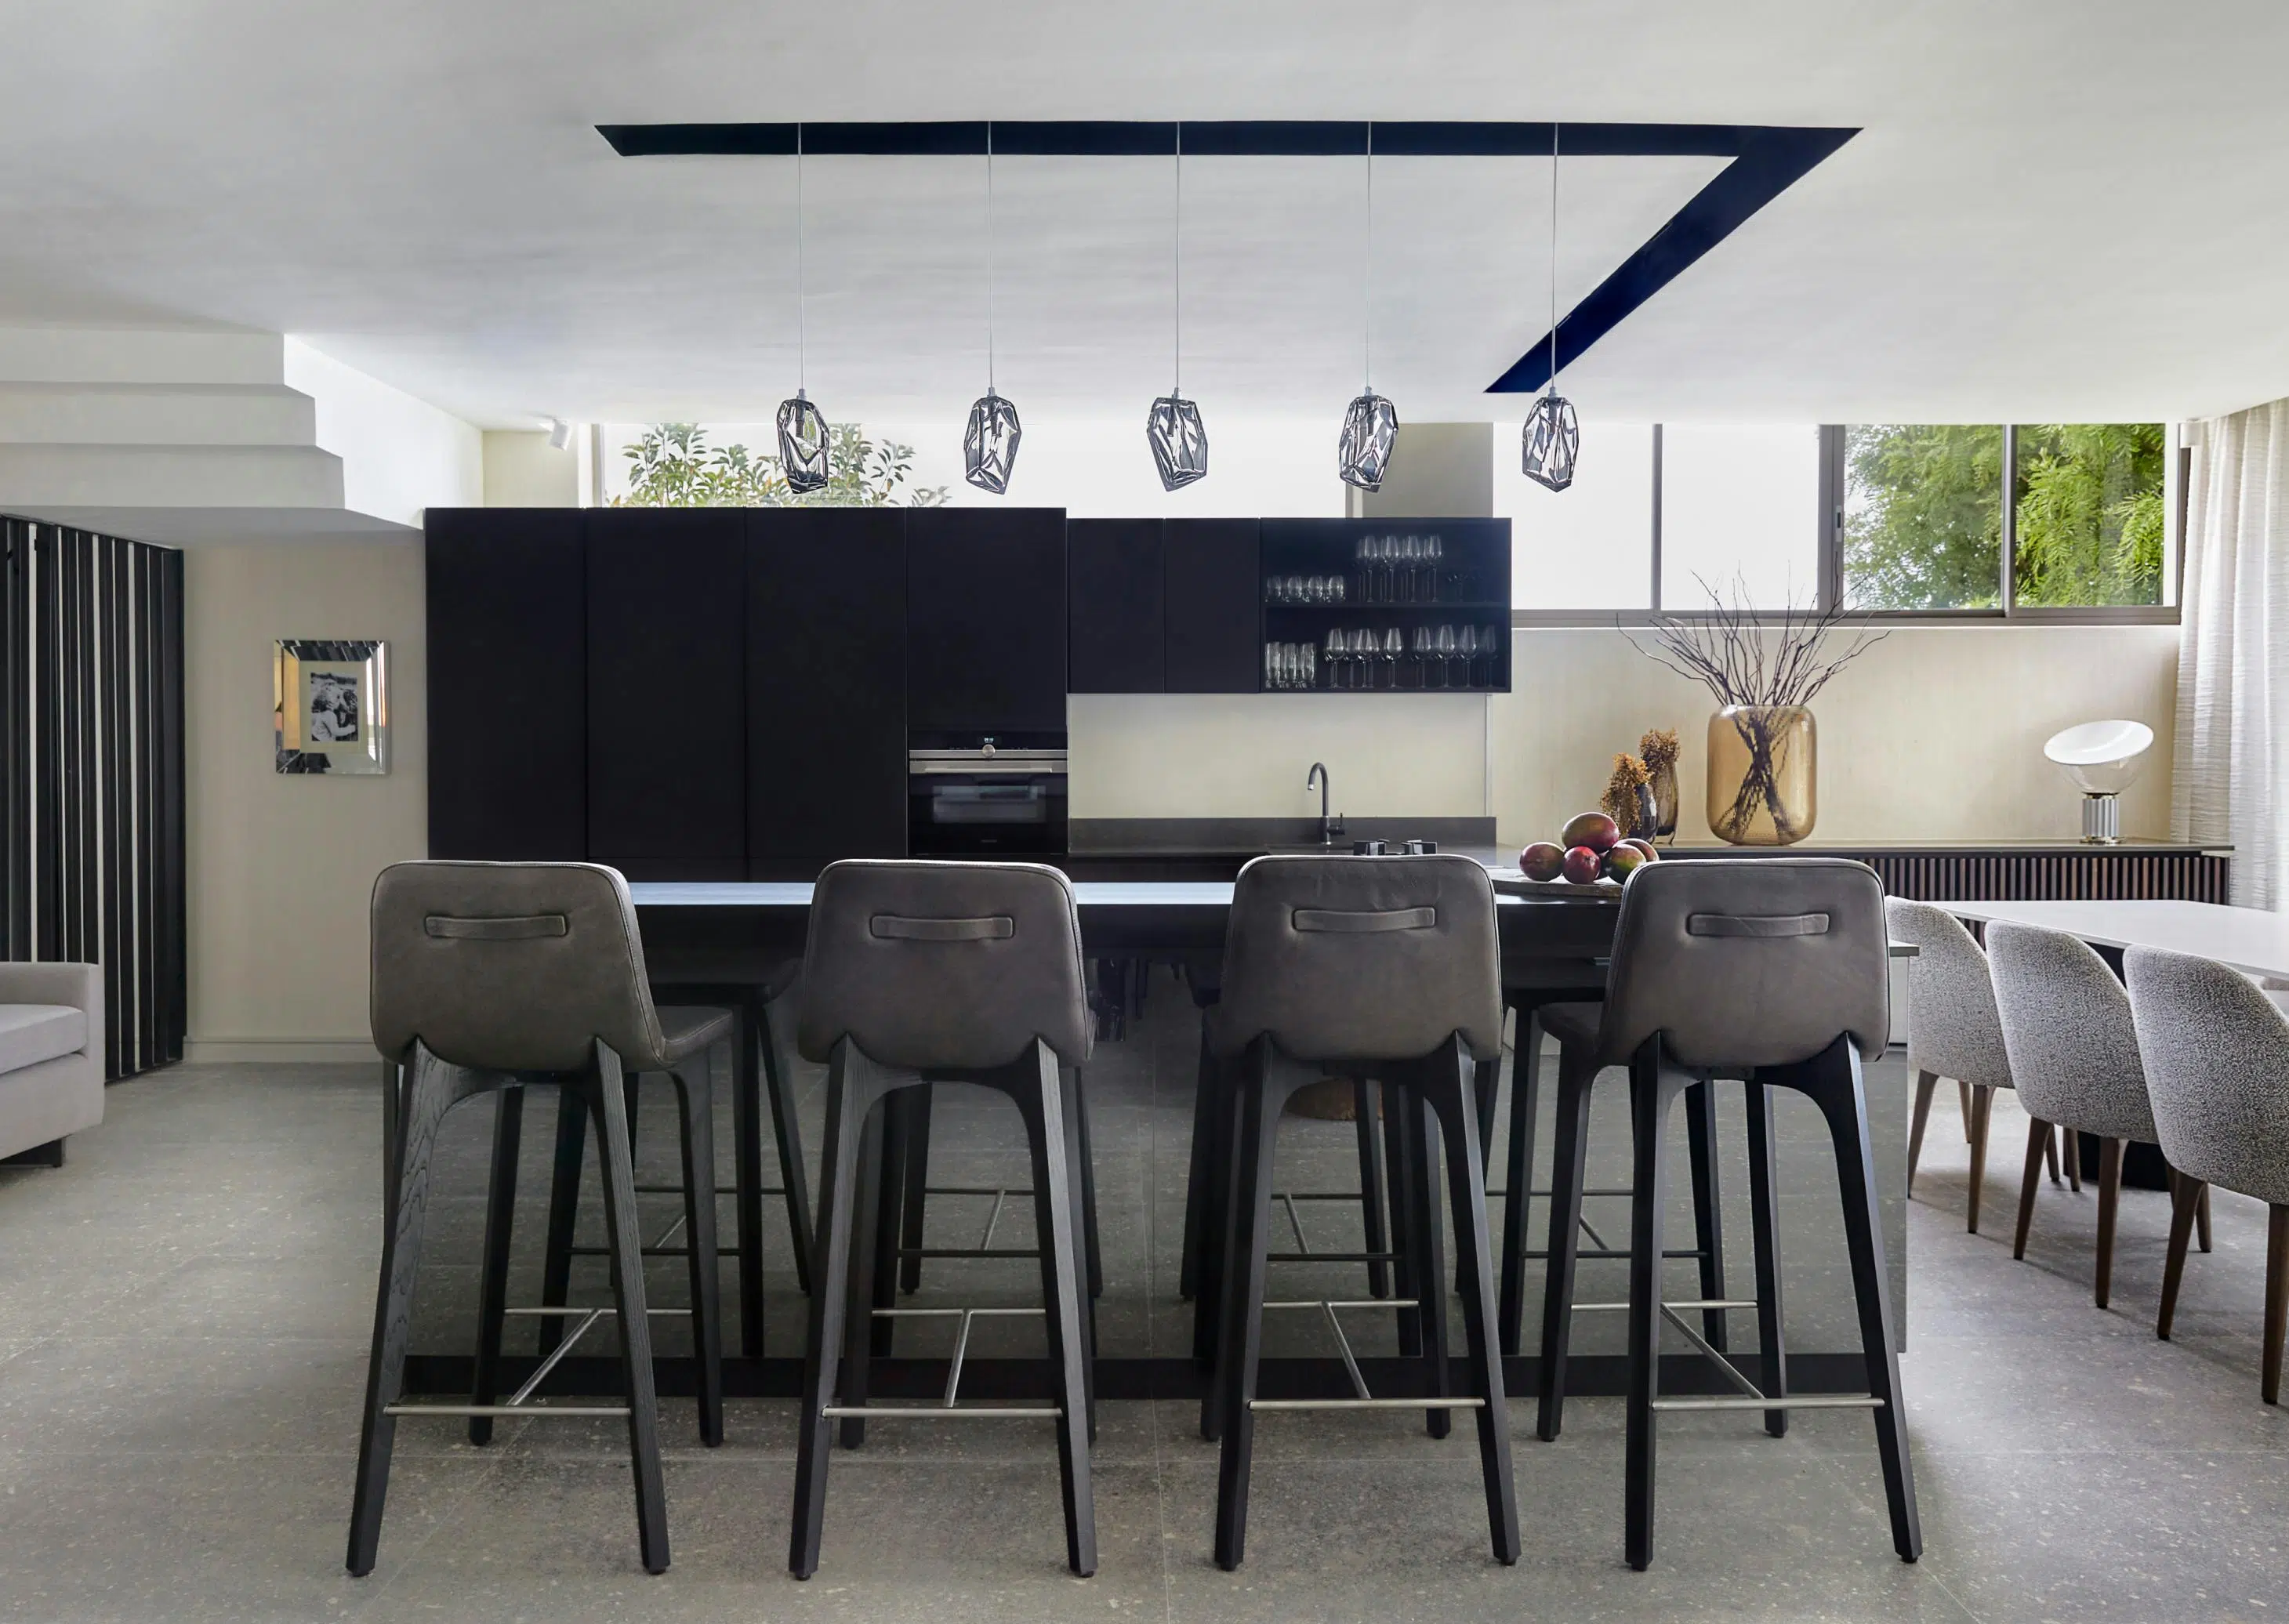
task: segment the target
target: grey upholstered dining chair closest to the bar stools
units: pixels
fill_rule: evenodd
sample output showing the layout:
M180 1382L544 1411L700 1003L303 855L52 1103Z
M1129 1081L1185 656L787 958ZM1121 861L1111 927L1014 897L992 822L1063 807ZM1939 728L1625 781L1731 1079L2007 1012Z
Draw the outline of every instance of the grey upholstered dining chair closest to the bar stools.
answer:
M1980 1233L1980 1185L1987 1183L1987 1119L1994 1091L2012 1086L2003 1020L1987 974L1987 954L1946 908L1904 897L1884 899L1891 940L1911 942L1907 968L1907 1068L1916 1073L1916 1116L1907 1132L1907 1185L1916 1187L1923 1125L1941 1077L1969 1089L1964 1132L1971 1139L1971 1192L1964 1226Z

